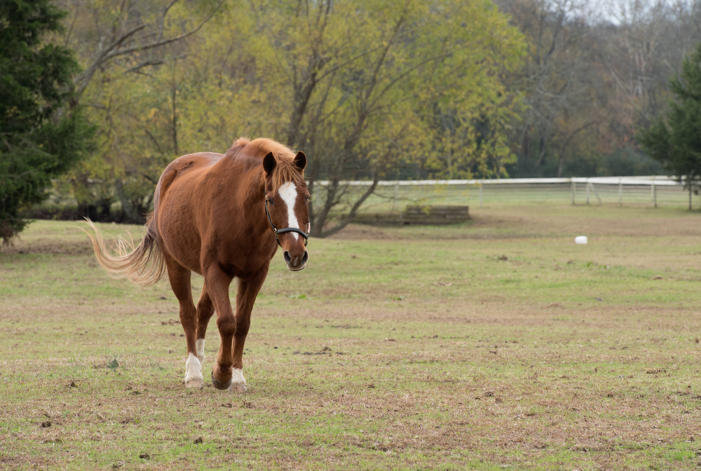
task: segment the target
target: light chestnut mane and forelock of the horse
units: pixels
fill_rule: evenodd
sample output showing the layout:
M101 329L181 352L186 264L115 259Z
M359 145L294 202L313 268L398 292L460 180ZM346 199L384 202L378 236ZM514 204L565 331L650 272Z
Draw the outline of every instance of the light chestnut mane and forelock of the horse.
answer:
M245 153L247 156L261 160L268 152L272 152L273 156L275 156L275 161L278 162L278 165L275 165L275 170L273 170L273 191L277 191L285 182L293 182L297 186L304 184L304 172L300 172L294 163L296 154L285 144L280 144L280 142L266 139L265 137L253 140L247 137L239 137L231 144L229 152Z

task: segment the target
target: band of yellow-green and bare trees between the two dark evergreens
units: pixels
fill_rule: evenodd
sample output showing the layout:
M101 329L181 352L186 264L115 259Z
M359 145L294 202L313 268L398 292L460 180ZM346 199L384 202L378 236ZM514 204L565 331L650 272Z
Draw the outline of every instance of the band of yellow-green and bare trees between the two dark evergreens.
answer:
M364 199L343 179L661 174L636 130L701 39L699 1L55 4L97 126L55 201L142 221L173 158L265 136L309 156L325 233Z

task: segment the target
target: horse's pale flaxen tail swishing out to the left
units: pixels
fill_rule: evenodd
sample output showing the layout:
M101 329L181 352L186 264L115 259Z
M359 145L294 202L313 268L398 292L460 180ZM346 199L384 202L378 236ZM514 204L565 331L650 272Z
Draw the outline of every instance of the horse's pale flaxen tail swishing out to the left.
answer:
M163 277L165 273L165 260L163 250L158 245L158 236L154 228L153 213L149 214L146 223L146 235L141 243L134 248L134 240L127 242L122 238L116 240L115 252L113 255L107 249L102 239L100 229L95 227L93 221L86 218L88 224L93 229L93 233L81 228L81 231L88 234L90 242L93 243L93 250L97 263L107 270L115 278L127 278L130 282L140 286L154 285Z

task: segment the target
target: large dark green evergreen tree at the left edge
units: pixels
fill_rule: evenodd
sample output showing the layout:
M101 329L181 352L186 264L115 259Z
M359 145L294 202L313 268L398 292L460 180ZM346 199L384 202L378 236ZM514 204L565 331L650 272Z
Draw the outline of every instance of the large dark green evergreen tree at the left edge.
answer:
M46 198L51 178L79 160L92 128L76 107L71 50L43 43L64 13L49 0L0 3L0 236L22 231L21 212Z

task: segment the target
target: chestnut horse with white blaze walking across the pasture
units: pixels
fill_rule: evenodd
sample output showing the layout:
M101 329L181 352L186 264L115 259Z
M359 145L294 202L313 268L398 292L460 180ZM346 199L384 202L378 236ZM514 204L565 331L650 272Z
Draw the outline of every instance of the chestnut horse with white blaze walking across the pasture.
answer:
M88 236L97 261L111 275L147 286L168 269L187 342L187 387L203 385L205 332L216 311L222 343L212 384L245 392L243 346L270 261L278 245L291 271L302 270L309 257L305 166L303 152L295 154L271 139L240 138L223 155L191 153L163 170L146 235L135 249L120 240L118 254L110 254L88 221L95 231ZM190 287L193 271L205 278L197 307ZM238 278L236 315L229 301L233 278Z

